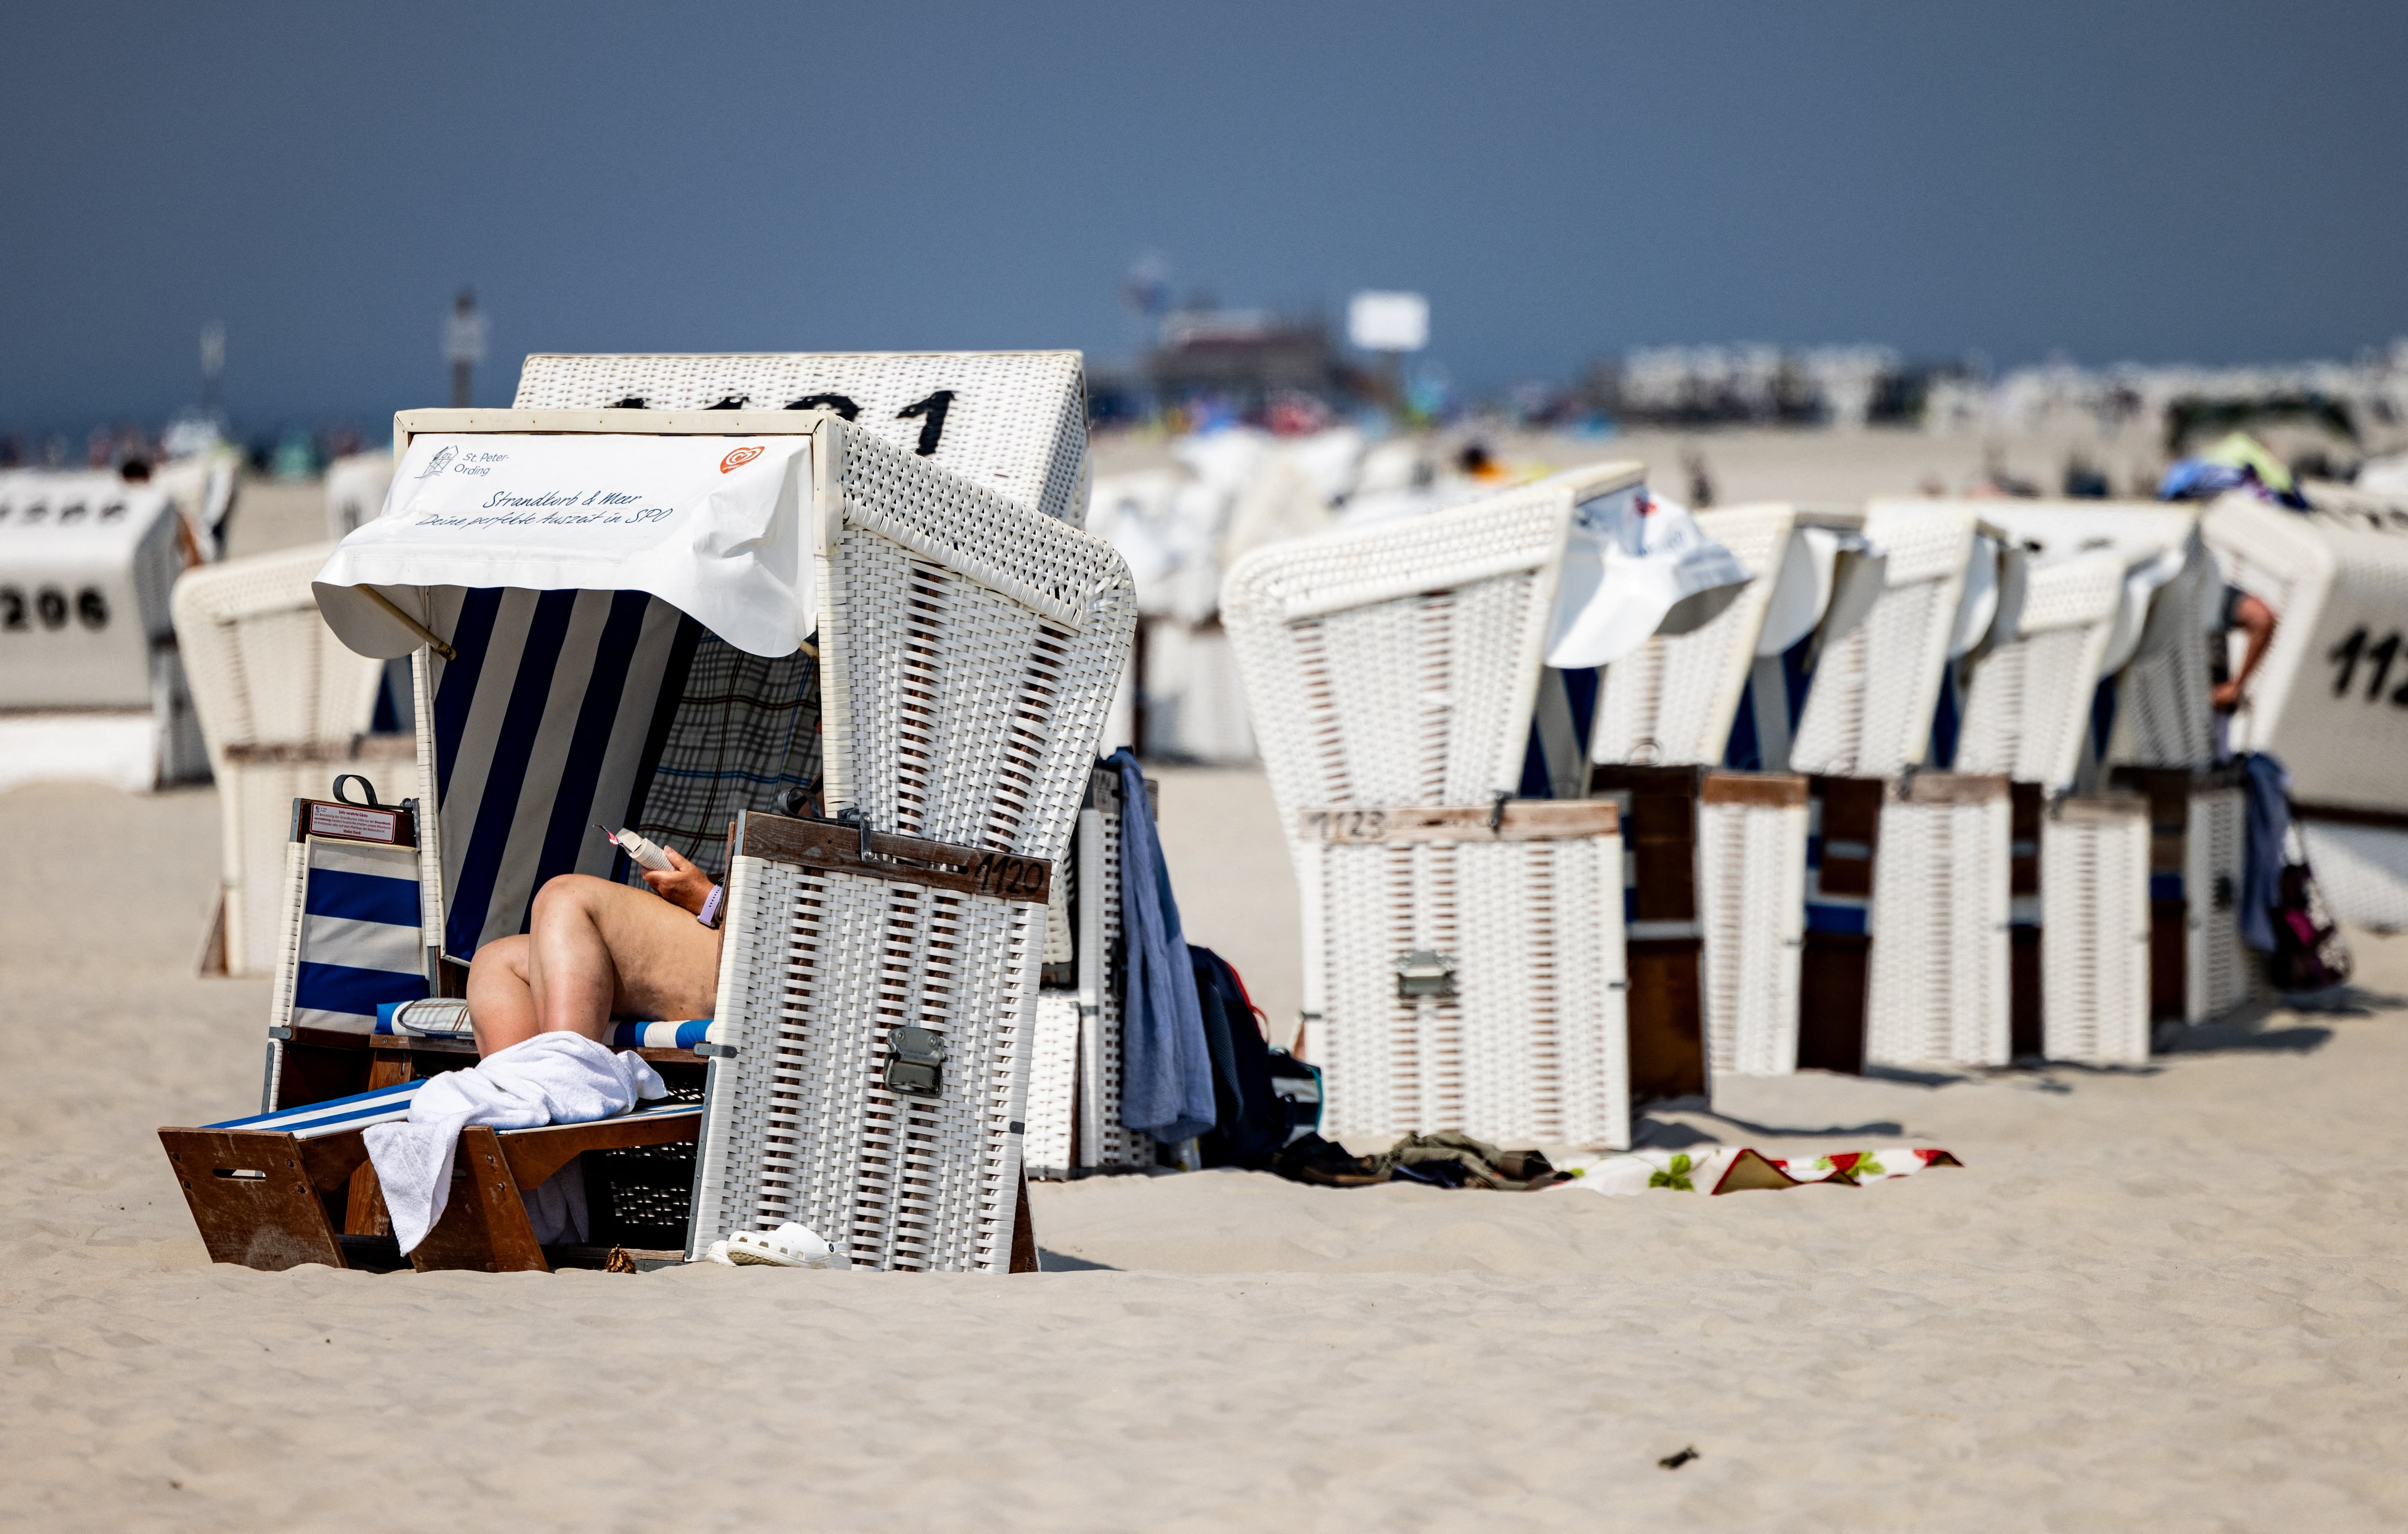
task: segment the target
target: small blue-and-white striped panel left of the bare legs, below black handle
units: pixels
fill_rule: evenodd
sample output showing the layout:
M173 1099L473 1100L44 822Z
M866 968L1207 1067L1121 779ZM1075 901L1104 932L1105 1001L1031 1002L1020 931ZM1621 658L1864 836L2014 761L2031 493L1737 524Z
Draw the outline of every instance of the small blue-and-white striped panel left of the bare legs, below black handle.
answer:
M412 848L311 843L294 1023L361 1033L378 1004L426 995L417 874Z

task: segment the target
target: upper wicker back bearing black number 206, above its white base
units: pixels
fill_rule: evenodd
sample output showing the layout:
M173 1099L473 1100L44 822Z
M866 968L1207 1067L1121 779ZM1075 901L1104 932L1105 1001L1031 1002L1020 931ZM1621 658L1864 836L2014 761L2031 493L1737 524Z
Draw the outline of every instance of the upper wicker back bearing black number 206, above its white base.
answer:
M0 474L0 710L147 713L181 568L164 491L116 474Z

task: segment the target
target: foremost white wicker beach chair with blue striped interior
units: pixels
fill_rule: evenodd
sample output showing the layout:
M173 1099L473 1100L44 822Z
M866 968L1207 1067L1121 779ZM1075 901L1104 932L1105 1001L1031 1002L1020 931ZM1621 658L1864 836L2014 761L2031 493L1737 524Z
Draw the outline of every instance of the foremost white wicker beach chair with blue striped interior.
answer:
M811 438L797 532L816 657L742 653L645 590L368 588L441 641L417 667L426 970L458 985L547 877L614 874L588 821L633 824L730 886L679 1245L807 1219L857 1264L1033 1257L1014 1238L1026 1033L1050 862L1127 653L1117 556L836 407L414 412L397 429L405 453L426 431ZM347 597L337 631L368 602ZM795 819L814 800L845 824ZM816 946L792 946L802 930ZM327 1045L287 1033L272 1098ZM838 1072L814 1076L809 1122L797 1050Z

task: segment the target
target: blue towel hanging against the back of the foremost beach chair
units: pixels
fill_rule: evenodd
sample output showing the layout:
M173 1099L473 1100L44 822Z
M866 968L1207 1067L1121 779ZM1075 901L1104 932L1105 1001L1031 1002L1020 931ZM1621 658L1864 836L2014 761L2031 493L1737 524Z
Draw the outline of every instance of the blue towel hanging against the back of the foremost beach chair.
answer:
M1120 1122L1163 1144L1214 1127L1211 1048L1197 1002L1194 961L1170 898L1170 869L1153 838L1146 775L1127 747L1120 768L1120 932L1127 992L1120 1023Z

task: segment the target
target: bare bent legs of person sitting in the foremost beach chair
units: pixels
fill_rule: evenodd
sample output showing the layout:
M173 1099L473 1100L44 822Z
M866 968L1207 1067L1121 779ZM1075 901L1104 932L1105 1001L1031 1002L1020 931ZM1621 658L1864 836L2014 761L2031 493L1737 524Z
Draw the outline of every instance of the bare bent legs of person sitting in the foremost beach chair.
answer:
M467 1009L477 1052L491 1055L537 1033L602 1040L609 1019L710 1016L720 934L669 901L561 874L535 896L525 937L477 949Z

